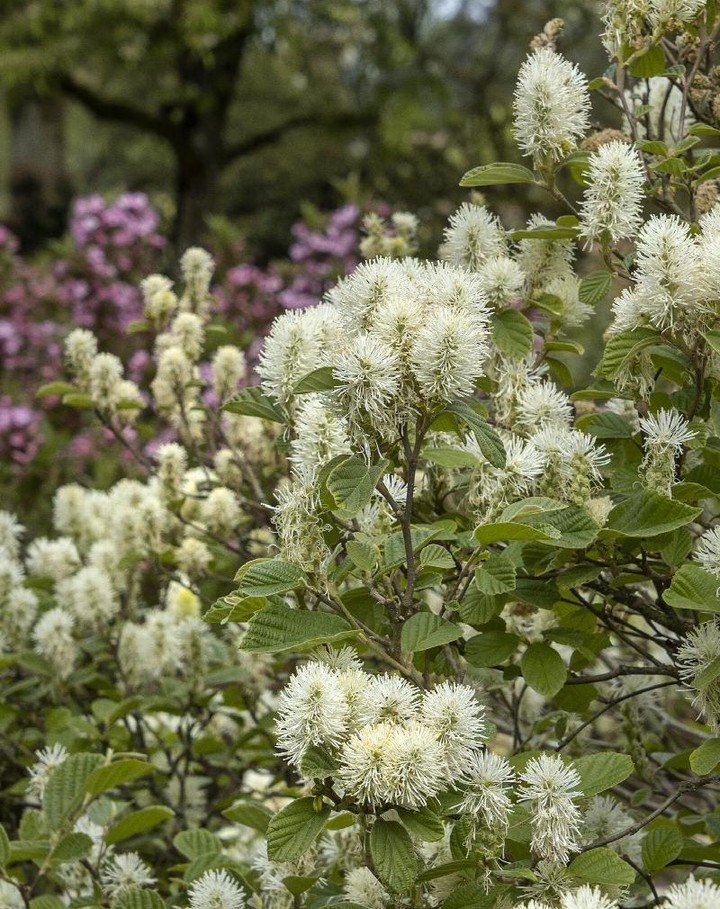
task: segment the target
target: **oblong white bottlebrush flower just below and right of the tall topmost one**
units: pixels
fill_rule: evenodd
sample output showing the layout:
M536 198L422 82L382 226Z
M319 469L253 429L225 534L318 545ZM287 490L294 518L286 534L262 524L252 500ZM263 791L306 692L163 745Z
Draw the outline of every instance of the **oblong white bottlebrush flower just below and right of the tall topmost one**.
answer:
M617 242L633 237L642 221L645 175L640 155L625 142L601 145L585 176L581 226L585 237Z

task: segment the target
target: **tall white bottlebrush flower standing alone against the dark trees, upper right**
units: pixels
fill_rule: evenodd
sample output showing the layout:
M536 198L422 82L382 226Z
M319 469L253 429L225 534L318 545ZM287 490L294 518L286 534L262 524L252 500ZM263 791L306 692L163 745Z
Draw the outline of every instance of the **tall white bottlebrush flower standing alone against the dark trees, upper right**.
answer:
M520 67L513 111L521 150L536 161L560 161L588 128L587 80L574 63L541 47Z

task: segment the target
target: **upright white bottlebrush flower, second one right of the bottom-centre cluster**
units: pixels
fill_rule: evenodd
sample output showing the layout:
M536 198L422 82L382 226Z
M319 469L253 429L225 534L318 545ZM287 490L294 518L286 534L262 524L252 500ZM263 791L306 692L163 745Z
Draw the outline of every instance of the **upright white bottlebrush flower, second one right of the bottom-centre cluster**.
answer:
M528 762L520 776L518 801L530 809L531 848L541 858L566 862L578 847L582 797L580 776L555 755L543 754Z

